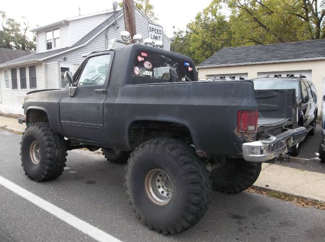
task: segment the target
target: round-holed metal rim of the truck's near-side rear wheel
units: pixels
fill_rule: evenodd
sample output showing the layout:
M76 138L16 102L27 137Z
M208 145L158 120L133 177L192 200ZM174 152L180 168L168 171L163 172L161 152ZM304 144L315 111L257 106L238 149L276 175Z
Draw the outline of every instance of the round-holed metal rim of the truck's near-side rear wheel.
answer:
M172 181L161 169L152 169L147 173L144 187L149 199L159 206L168 204L173 197Z

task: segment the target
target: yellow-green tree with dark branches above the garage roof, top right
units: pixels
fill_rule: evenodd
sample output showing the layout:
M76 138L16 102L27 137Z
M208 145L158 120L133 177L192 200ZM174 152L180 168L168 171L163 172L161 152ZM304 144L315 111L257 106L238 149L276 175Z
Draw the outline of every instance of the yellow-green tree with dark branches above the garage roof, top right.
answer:
M320 39L323 3L305 0L230 0L234 46ZM322 37L323 38L323 37Z

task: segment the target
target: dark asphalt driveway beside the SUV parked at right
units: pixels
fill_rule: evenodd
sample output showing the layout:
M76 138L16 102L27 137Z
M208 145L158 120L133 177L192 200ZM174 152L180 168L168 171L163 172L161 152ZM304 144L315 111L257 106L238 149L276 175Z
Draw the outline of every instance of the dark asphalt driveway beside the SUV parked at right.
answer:
M315 157L315 152L318 152L320 132L321 132L321 126L320 124L317 124L315 135L313 136L307 135L305 140L300 144L300 151L297 157L306 158L306 159ZM276 164L293 167L296 169L305 169L309 171L325 173L325 163L320 163L320 162L308 162L306 164L276 162Z

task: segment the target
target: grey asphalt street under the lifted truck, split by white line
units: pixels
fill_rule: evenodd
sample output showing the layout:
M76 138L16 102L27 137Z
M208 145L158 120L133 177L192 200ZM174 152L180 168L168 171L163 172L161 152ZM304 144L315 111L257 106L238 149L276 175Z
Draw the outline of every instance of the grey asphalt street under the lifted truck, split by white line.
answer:
M20 135L0 130L0 176L122 241L325 241L325 211L257 194L213 192L209 211L191 229L164 236L148 230L128 204L124 165L102 155L68 152L69 167L50 182L25 177ZM93 241L0 185L0 241Z

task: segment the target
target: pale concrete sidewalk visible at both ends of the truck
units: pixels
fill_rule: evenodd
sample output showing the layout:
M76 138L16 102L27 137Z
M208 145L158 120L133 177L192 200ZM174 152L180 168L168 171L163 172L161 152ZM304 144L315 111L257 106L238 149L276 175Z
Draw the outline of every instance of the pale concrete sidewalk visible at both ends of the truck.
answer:
M0 128L21 134L25 124L19 124L17 118L0 116ZM325 202L323 173L263 163L261 175L254 186Z

